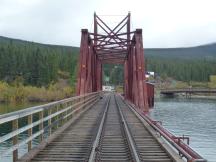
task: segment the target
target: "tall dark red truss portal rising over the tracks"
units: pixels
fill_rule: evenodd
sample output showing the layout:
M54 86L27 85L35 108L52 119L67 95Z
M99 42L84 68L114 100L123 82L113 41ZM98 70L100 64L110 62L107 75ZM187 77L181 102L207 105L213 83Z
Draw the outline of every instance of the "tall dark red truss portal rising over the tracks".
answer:
M154 87L145 81L142 29L130 30L130 13L113 29L95 13L94 32L82 29L77 95L102 89L103 63L124 65L126 99L143 111L153 106Z

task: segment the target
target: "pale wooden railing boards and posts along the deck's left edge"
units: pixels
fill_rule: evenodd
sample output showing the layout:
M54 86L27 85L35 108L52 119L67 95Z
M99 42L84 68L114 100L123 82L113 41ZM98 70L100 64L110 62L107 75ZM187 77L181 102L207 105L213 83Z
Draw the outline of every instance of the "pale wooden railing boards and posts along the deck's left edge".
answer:
M66 119L69 117L71 118L73 114L78 113L80 111L83 111L83 109L85 108L86 105L89 106L89 105L92 105L93 103L95 103L95 100L98 100L98 98L99 98L98 97L99 93L100 92L95 92L95 93L91 93L91 94L86 94L86 95L82 95L82 96L78 96L78 97L72 97L69 99L65 99L64 101L66 101L66 102L62 103L62 104L64 104L64 106L62 106L62 109L59 110L58 112L53 113L53 114L52 114L53 107L50 107L52 104L45 104L46 107L43 107L44 105L36 106L36 107L33 107L33 109L29 108L27 111L18 111L18 112L10 113L7 115L0 115L0 124L5 123L5 122L9 122L12 120L12 128L13 128L12 132L0 137L0 143L4 142L5 140L8 140L10 138L12 138L12 141L13 141L13 146L10 147L9 149L7 149L6 151L2 152L0 154L0 159L1 159L1 157L13 152L13 161L17 161L18 148L20 148L21 146L23 146L25 144L28 144L28 151L30 151L32 148L32 140L34 138L39 136L39 140L42 141L43 140L43 133L47 129L48 130L52 129L52 118L53 117L59 116L59 119L61 121L66 122ZM84 105L82 105L83 102L80 101L80 99L82 99L83 97L86 98L86 100L85 100L86 102ZM61 103L61 102L58 101L55 103ZM70 104L72 104L72 105L70 105ZM49 105L49 106L47 107L47 105ZM54 104L54 105L56 105L56 104ZM38 108L38 109L35 110L34 108ZM29 112L29 110L32 110L33 112ZM44 117L44 111L45 110L48 111L48 115L46 117ZM70 112L70 113L68 113L68 112ZM39 120L32 123L33 114L35 114L35 113L38 113ZM10 116L10 115L12 115L12 116ZM28 119L28 125L19 128L18 127L18 119L23 118L25 116ZM48 121L48 126L46 126L44 128L43 124L46 121ZM64 124L64 123L62 123L62 124ZM35 127L37 125L39 125L39 131L37 133L32 134L33 127ZM21 142L18 142L18 135L24 131L28 131L29 137L26 138L25 140L21 141ZM52 132L50 131L50 134L51 133Z

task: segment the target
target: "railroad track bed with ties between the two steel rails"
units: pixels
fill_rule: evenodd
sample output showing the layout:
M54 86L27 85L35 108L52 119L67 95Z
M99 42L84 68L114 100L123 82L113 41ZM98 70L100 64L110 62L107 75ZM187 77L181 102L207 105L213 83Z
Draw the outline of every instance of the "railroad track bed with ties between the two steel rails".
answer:
M133 161L126 135L114 95L112 95L98 139L95 161Z

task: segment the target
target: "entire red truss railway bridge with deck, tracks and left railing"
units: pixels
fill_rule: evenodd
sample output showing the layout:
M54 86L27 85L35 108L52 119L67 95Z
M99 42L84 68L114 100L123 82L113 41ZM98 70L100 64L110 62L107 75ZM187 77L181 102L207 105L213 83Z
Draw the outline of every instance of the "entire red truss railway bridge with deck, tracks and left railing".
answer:
M103 63L124 65L124 96L101 91ZM188 137L148 116L154 86L144 67L142 30L130 30L130 13L113 29L94 14L94 32L82 30L77 96L0 115L8 127L0 146L11 142L0 161L12 154L13 162L206 162Z

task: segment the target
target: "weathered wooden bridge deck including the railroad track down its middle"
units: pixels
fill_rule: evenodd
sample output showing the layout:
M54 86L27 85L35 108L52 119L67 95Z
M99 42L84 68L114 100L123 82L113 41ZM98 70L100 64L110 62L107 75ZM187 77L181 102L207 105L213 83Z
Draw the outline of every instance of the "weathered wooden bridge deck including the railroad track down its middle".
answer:
M19 161L26 161L31 151ZM32 162L182 161L116 95L105 95L50 142Z

